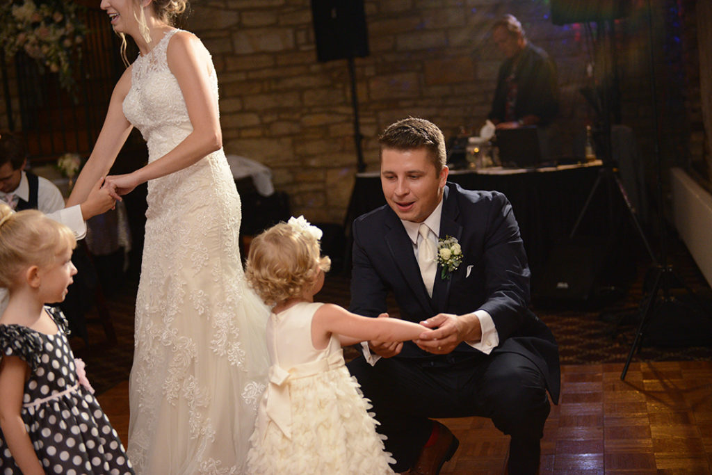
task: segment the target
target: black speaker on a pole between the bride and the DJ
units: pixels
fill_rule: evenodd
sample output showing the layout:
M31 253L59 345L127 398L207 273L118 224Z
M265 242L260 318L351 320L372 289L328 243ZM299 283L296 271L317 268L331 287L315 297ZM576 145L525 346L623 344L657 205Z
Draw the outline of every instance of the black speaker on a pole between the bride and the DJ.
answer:
M312 0L319 61L368 56L364 0Z

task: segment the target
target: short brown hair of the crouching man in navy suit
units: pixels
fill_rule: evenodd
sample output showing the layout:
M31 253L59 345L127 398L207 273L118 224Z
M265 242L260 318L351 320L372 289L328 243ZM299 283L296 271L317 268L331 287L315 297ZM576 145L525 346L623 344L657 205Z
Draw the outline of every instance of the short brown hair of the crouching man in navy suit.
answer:
M403 152L424 148L429 152L436 172L439 173L446 164L445 137L429 120L409 117L394 122L378 137L378 143L381 145L379 158L385 148Z

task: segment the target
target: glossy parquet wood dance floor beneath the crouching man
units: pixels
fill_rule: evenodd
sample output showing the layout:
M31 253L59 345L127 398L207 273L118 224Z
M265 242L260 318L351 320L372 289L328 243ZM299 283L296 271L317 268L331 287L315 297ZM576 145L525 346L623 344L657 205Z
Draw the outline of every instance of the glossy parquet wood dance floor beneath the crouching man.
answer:
M542 440L541 474L712 474L712 362L562 366ZM126 442L128 382L99 397ZM488 419L441 419L460 439L442 475L501 474L508 437Z

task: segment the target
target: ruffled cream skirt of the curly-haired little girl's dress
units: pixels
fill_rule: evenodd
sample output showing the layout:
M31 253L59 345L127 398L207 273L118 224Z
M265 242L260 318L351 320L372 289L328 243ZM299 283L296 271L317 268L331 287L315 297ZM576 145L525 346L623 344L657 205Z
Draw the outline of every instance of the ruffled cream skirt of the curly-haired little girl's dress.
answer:
M274 422L250 438L248 473L260 475L393 474L383 436L345 366L292 380L291 439Z

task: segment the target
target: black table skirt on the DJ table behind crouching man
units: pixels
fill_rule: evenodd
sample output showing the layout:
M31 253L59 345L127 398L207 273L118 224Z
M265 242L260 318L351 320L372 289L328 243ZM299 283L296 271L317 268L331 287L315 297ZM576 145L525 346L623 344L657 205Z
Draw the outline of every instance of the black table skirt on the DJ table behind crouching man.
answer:
M572 231L601 172L600 165L514 174L451 172L448 181L466 189L496 190L506 195L519 223L531 271L536 273L543 268L557 241ZM608 180L604 179L595 188L577 235L599 235L609 230L612 196L609 188ZM357 174L345 221L348 243L353 220L385 203L380 177ZM350 244L347 254L350 268Z

